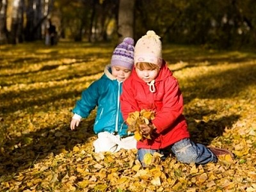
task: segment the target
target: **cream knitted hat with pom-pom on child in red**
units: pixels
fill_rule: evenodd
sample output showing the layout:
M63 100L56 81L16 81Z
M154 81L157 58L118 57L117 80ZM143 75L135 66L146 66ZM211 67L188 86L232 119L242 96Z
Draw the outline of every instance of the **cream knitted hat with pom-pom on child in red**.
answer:
M160 36L155 31L147 31L147 35L142 36L134 48L134 63L147 62L153 63L161 67L162 59L162 43Z

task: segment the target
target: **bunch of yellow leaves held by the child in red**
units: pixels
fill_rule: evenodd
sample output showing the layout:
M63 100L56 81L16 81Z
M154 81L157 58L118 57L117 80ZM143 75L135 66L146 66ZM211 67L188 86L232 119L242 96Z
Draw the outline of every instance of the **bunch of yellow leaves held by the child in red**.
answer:
M143 132L140 130L140 125L148 125L150 120L153 120L154 118L154 111L147 111L145 109L129 113L129 116L126 120L128 124L128 134L134 132L134 138L137 141L140 141L143 138L151 139L150 134L143 134Z

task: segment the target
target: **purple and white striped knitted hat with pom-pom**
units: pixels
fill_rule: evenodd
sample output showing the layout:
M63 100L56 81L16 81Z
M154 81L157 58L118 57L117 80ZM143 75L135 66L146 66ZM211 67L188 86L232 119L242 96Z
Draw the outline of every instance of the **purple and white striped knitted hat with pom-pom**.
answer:
M131 37L126 37L121 44L116 46L111 58L111 67L121 66L132 70L133 65L134 40Z

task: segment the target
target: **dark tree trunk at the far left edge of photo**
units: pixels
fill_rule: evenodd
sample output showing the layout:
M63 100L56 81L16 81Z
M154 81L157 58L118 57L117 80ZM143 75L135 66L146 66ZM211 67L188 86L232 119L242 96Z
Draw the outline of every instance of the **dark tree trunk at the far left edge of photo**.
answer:
M0 1L0 45L7 43L7 28L6 28L6 9L7 0Z

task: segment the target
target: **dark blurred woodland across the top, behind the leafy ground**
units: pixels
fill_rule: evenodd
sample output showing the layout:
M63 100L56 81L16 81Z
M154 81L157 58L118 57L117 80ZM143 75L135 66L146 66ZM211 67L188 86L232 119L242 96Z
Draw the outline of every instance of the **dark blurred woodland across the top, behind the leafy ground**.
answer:
M131 1L131 0L119 0ZM0 44L44 39L47 19L60 38L116 42L118 0L1 0ZM256 1L133 0L135 40L153 29L164 42L218 49L254 47ZM4 10L7 10L4 15ZM122 20L122 18L121 18Z

